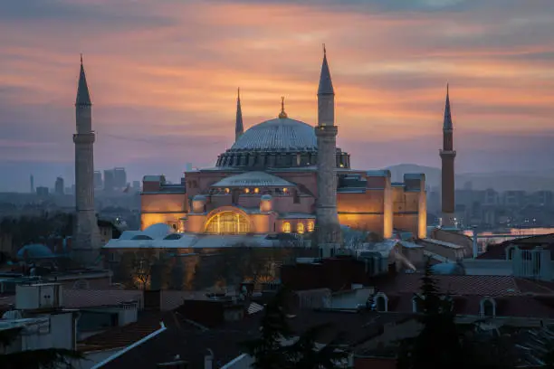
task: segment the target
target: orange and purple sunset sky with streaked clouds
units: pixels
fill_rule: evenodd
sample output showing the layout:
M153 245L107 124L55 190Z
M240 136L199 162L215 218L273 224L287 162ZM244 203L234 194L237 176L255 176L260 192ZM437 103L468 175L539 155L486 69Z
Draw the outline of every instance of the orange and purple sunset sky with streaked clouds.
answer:
M19 0L0 6L0 190L72 183L83 53L95 166L212 166L245 128L316 120L321 43L357 168L440 166L450 83L461 172L554 168L552 0Z

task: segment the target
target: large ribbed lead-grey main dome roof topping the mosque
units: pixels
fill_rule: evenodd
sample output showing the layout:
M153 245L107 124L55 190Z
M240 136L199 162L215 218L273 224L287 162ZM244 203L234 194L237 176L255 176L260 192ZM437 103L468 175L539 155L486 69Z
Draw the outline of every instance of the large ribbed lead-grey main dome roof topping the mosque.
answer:
M248 129L230 150L315 151L317 145L312 126L291 118L274 118Z

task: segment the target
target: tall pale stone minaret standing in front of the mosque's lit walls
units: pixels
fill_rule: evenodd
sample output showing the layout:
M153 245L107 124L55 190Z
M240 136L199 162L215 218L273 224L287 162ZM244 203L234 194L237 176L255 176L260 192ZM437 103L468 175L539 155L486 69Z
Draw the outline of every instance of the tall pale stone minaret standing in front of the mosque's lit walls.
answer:
M318 88L318 198L316 203L316 237L323 256L340 246L337 215L337 133L335 126L335 91L330 78L327 52L323 46L320 86Z

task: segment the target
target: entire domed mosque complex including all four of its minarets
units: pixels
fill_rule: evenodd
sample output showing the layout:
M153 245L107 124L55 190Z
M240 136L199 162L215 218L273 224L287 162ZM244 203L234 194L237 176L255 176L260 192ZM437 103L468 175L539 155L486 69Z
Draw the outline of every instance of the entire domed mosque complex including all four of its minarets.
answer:
M275 118L244 130L239 94L233 146L215 158L215 166L187 171L177 185L167 183L164 175L145 175L141 230L124 232L119 240L103 247L129 249L148 244L154 248L191 248L200 247L210 237L214 247L214 236L218 240L243 236L263 243L264 238L275 234L310 233L320 248L329 251L341 247L344 227L373 232L384 239L395 238L399 232L424 239L425 175L406 174L402 183L392 182L387 170L352 168L349 153L336 146L339 125L326 52L317 96L316 124L291 118L282 101ZM78 131L83 120L84 130L88 129L74 136L77 219L81 233L88 235L76 237L73 250L79 251L97 249L91 246L97 236L87 213L92 191L83 184L91 182L94 133L82 63L76 107ZM447 98L441 156L447 166L443 186L452 187L452 191L443 191L446 215L454 213L449 209L449 203L454 203L452 144ZM86 163L86 169L79 169L82 163ZM448 170L450 167L452 170ZM89 196L88 201L83 202L80 196Z

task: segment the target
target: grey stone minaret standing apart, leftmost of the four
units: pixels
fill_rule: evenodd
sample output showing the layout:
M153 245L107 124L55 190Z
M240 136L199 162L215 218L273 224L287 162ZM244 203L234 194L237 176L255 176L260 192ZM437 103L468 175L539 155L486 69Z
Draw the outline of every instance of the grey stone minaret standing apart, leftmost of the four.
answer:
M73 232L74 259L91 265L100 255L100 232L94 211L94 138L91 116L91 95L82 66L75 100L77 133L75 143L75 205L76 222Z

